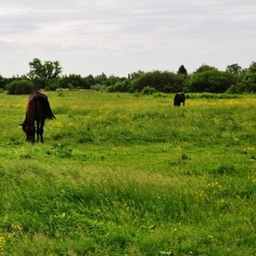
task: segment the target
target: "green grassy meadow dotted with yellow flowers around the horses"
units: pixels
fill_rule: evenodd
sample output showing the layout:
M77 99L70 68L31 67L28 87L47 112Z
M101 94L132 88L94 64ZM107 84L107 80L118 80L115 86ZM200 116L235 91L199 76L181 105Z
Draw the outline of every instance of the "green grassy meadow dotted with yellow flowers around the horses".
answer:
M256 96L0 94L0 255L255 255Z

